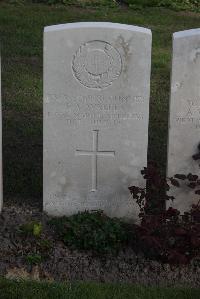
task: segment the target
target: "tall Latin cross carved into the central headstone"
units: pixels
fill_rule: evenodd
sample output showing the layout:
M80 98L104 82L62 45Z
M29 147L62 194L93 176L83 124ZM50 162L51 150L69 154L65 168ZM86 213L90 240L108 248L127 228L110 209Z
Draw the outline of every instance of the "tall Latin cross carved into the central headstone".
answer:
M91 156L92 157L92 189L91 191L97 191L97 158L103 157L114 157L114 151L99 151L98 150L98 130L93 130L93 148L92 151L76 150L76 156Z

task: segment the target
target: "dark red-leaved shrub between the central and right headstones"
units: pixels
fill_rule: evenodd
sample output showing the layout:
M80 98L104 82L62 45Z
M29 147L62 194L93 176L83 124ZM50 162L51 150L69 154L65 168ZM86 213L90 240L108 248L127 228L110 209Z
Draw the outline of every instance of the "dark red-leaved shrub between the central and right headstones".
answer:
M200 159L200 146L198 149L194 160ZM199 177L189 173L166 178L155 162L150 162L141 174L147 187L129 187L140 208L141 224L136 226L139 249L149 258L170 264L187 264L192 259L200 259L200 201L183 215L172 207L166 209L166 201L175 200L167 195L171 185L180 187L184 181L200 195Z

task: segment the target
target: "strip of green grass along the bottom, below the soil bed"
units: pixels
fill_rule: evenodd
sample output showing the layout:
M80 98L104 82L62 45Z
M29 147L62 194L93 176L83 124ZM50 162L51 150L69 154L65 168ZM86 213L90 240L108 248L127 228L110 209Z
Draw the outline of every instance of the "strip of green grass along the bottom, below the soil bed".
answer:
M0 299L198 299L198 289L167 289L120 284L36 283L0 279Z

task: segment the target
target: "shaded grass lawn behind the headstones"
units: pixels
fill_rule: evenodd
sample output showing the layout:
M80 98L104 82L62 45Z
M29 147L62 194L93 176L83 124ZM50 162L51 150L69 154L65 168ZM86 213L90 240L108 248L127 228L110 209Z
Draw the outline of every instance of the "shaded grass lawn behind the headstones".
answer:
M170 84L171 38L200 27L200 15L148 8L78 8L0 2L3 88L4 193L42 200L42 43L43 27L109 21L153 31L149 157L164 169ZM127 186L128 187L128 186Z

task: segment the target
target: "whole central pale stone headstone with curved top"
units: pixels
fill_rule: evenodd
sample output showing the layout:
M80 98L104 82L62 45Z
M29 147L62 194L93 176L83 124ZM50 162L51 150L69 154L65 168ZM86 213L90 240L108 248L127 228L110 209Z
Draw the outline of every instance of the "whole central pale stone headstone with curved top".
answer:
M144 185L151 31L112 23L44 30L44 210L133 220Z

